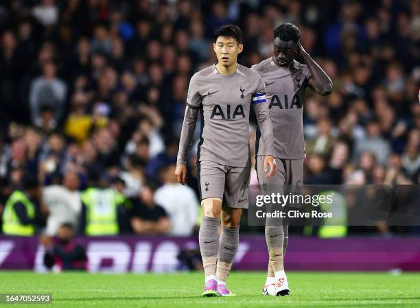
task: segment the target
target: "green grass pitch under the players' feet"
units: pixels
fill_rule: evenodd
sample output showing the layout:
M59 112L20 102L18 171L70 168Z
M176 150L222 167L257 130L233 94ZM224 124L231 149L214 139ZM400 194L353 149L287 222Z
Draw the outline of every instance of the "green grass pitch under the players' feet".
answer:
M264 272L233 272L235 298L202 298L203 275L0 272L0 293L51 293L52 305L8 307L420 307L420 273L289 272L291 294L262 296ZM5 307L5 305L1 305Z

